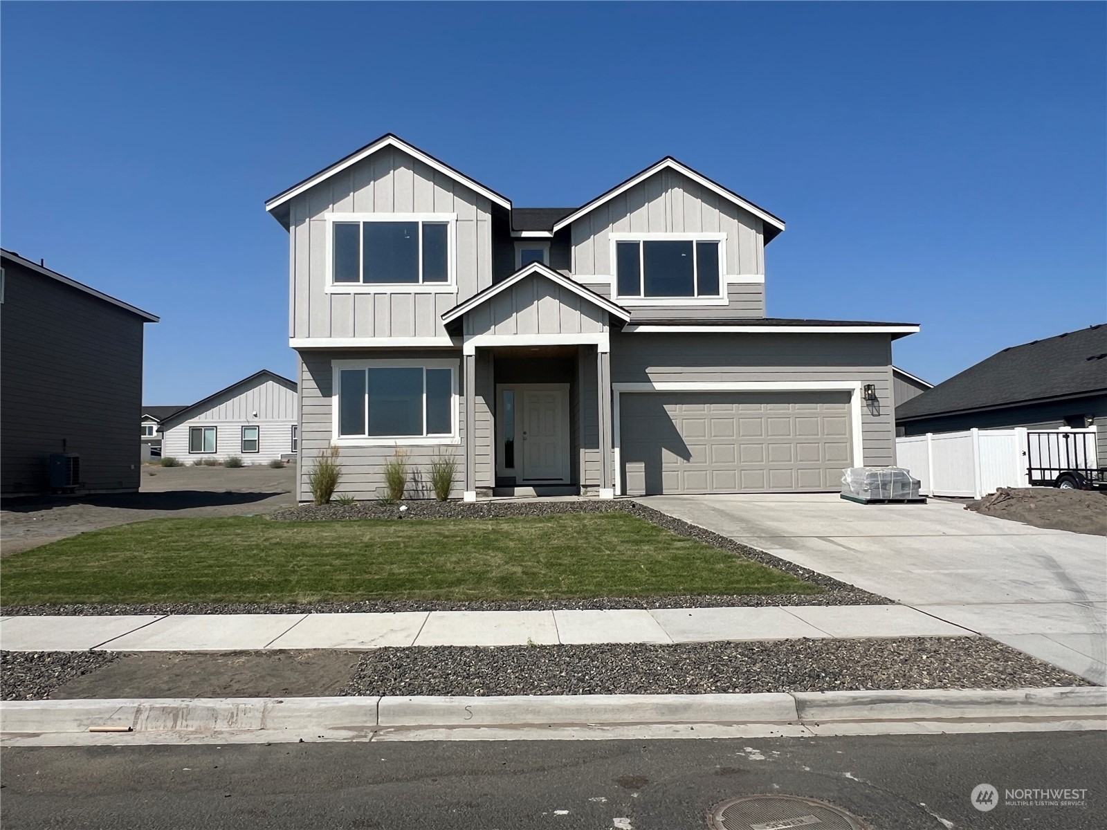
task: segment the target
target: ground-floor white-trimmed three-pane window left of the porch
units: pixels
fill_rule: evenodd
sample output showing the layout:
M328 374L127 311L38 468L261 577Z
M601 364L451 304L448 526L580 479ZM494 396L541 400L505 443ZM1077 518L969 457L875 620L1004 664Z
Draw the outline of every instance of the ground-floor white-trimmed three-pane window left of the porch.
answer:
M338 437L454 437L455 370L442 363L337 366Z

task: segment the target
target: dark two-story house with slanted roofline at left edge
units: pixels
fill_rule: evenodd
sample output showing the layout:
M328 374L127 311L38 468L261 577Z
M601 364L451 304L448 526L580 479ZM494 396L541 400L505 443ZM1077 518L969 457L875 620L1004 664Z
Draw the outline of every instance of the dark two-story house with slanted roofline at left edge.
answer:
M157 318L41 261L0 258L0 490L137 490L143 325ZM52 454L68 456L53 479Z

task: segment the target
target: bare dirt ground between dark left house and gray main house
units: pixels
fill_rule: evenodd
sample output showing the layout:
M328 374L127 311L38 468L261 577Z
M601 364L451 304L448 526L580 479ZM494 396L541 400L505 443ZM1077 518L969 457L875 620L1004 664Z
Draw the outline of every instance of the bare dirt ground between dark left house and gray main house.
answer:
M0 556L146 519L268 513L296 504L294 486L296 465L283 469L144 465L138 492L4 499Z

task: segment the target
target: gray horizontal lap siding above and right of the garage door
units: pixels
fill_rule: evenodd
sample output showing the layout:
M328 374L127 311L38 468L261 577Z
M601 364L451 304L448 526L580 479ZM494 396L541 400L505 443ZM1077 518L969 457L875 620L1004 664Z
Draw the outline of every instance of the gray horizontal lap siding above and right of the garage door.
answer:
M612 383L871 383L861 407L866 465L894 464L891 343L887 334L617 334Z

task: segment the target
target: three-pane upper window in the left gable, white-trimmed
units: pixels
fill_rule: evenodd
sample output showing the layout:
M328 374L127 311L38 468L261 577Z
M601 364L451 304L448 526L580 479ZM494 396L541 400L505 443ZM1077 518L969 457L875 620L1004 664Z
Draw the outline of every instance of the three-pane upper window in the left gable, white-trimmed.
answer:
M331 216L334 284L442 286L452 282L452 215Z

